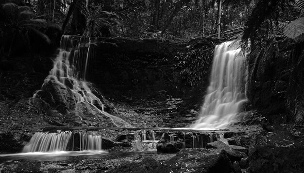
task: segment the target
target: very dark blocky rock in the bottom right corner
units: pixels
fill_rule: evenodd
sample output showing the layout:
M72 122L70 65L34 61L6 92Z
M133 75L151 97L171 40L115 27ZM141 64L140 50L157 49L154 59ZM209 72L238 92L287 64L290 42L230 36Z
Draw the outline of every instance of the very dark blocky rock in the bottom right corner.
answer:
M249 173L303 173L303 148L253 148L249 151Z

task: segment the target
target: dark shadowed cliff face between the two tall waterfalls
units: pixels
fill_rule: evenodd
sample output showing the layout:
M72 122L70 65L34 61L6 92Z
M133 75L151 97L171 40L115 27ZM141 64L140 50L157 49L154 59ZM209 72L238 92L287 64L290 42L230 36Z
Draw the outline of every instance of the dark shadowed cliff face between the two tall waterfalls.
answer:
M188 52L189 47L193 50L203 46L214 48L220 43L218 39L210 39L178 43L157 39L99 39L88 80L101 87L103 94L112 93L115 97L161 97L163 94L203 97L209 74L200 81L202 85L190 87L182 79L176 56ZM212 56L210 61L212 63Z

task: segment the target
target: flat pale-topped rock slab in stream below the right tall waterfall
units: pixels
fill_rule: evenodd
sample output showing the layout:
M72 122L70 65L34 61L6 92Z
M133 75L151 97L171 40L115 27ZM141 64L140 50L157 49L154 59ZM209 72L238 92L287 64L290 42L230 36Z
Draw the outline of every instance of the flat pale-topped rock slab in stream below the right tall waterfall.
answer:
M239 161L242 157L245 157L246 155L240 151L234 150L228 145L226 145L222 141L215 141L215 142L210 142L207 143L206 148L218 148L218 149L223 149L227 152L227 155L231 159L231 161Z

